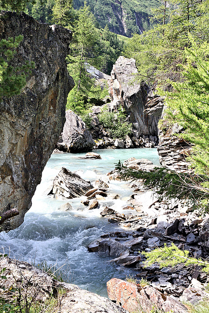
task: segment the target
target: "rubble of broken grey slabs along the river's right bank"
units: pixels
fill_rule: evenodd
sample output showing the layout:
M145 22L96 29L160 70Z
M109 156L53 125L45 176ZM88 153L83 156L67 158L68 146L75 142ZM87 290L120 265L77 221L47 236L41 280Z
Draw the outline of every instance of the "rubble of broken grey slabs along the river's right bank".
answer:
M134 157L123 164L135 170L154 171L156 168L151 161ZM108 182L112 179L120 180L116 171L108 173L106 182L97 180L93 183L92 189L83 192L86 199L83 199L82 203L89 210L98 208L99 202L104 201L105 198L120 197L117 194L111 195ZM202 215L202 212L194 209L188 201L176 199L160 201L157 194L151 190L145 191L140 181L129 182L129 184L133 188L133 194L123 207L124 212L129 210L129 213L119 213L111 206L102 207L100 211L100 215L109 223L119 224L123 230L101 235L88 246L88 250L97 252L100 256L111 257L109 263L133 268L134 276L139 282L142 278L146 278L152 288L165 296L171 296L171 299L176 301L167 298L171 301L170 308L176 303L177 309L174 312L186 312L185 307L181 305L178 307L178 301L192 303L199 301L204 292L195 293L191 288L198 290L202 286L204 289L201 283L209 283L209 275L202 272L199 266L186 267L179 264L173 268L161 268L160 264L156 263L145 267L146 258L141 252L150 252L165 244L167 246L174 244L182 250L188 250L190 256L209 260L209 214ZM112 284L110 294L112 300L115 298L118 300L114 288Z

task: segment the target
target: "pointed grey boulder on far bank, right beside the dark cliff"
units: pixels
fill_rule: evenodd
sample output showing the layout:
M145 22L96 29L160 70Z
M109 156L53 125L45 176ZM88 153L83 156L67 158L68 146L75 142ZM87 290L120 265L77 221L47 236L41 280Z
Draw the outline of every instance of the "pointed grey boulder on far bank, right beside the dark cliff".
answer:
M82 119L71 110L66 111L66 122L56 148L71 153L91 151L95 142Z

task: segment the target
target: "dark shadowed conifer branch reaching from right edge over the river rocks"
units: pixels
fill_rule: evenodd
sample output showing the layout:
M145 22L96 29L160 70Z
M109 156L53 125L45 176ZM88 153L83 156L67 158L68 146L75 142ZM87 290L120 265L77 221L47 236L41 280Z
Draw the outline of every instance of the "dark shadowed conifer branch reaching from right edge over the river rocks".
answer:
M122 179L140 179L144 188L155 191L160 199L187 199L197 207L205 201L205 209L209 209L209 192L202 185L203 182L209 183L209 178L157 167L154 172L136 171L123 166L120 161L116 170Z

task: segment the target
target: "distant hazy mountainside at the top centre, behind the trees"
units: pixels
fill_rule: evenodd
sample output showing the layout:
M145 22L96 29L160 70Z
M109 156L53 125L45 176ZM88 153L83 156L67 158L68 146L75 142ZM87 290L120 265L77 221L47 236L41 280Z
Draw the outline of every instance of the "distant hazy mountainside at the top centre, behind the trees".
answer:
M79 9L84 0L74 0ZM87 0L95 19L102 28L123 36L131 37L150 27L151 8L158 7L160 0Z

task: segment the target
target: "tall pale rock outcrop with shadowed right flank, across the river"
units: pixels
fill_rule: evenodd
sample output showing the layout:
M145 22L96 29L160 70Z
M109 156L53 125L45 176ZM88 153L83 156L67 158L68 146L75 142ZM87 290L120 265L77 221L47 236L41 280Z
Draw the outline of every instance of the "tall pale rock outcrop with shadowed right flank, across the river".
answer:
M146 109L149 87L134 82L134 75L138 70L134 59L120 56L111 72L109 80L110 95L113 108L121 105L128 113L128 118L133 123L133 134L139 136L157 136L159 117L144 113Z

